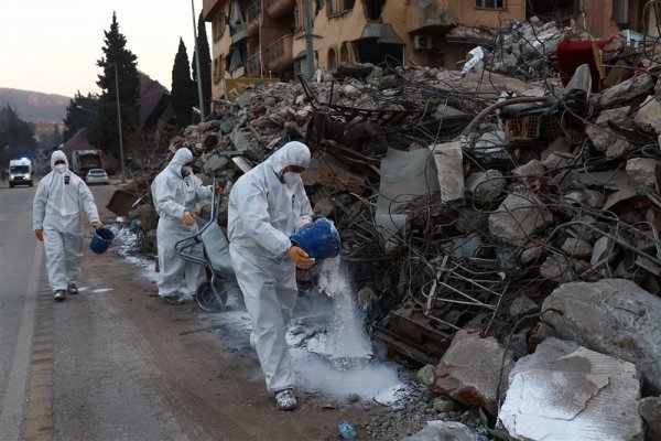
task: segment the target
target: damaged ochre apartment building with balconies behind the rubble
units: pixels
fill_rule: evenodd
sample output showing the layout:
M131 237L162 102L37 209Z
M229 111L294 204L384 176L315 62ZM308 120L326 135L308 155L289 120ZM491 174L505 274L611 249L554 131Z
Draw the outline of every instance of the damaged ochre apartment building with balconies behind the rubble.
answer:
M203 17L213 29L213 96L231 99L229 89L240 86L239 78L288 80L305 74L306 40L312 41L314 68L324 71L343 64L383 62L456 69L470 57L474 47L497 49L496 36L508 21L522 22L535 17L565 24L577 22L594 36L608 37L619 30L652 35L658 12L646 8L646 3L643 0L204 0Z

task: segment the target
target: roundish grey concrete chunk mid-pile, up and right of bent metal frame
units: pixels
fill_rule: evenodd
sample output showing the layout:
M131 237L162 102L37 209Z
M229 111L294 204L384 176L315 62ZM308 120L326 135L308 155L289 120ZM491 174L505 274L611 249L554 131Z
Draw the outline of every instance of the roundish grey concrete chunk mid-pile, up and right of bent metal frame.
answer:
M523 245L552 223L553 215L534 194L514 192L489 215L489 233L505 244Z

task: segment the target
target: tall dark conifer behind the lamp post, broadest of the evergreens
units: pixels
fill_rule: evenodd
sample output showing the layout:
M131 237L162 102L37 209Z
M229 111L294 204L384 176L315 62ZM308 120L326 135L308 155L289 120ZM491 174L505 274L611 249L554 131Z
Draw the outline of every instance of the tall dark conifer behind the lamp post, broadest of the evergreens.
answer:
M90 141L113 154L119 152L119 127L117 118L117 84L119 86L119 101L121 114L121 128L128 136L140 126L140 76L138 74L138 57L126 49L127 39L119 32L117 14L112 12L110 30L104 31L104 55L97 61L97 66L104 69L98 75L97 85L101 88L99 96L98 117L93 130Z

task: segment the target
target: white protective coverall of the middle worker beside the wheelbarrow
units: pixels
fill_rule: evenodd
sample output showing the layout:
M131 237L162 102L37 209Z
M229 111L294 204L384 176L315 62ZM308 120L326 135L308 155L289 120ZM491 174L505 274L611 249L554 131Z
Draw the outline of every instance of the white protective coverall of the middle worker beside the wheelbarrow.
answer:
M170 164L154 179L151 194L159 227L156 241L159 249L159 295L175 297L183 291L194 293L204 282L204 268L197 263L184 261L174 248L174 244L197 233L197 223L187 226L182 217L185 212L195 213L198 201L212 197L212 190L203 186L199 178L191 173L182 176L182 166L193 161L193 153L182 148L174 153ZM202 246L187 248L187 252L203 257ZM185 287L182 289L182 281Z

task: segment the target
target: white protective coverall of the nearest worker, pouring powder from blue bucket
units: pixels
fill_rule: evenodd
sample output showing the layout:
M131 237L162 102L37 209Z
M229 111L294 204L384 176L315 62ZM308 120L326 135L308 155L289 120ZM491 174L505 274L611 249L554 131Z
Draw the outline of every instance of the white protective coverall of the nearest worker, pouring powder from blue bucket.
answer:
M303 182L289 187L281 180L288 165L307 168L310 150L288 142L239 178L231 189L228 238L231 263L250 314L250 342L259 356L270 392L294 386L285 326L299 289L288 255L290 236L312 219Z

